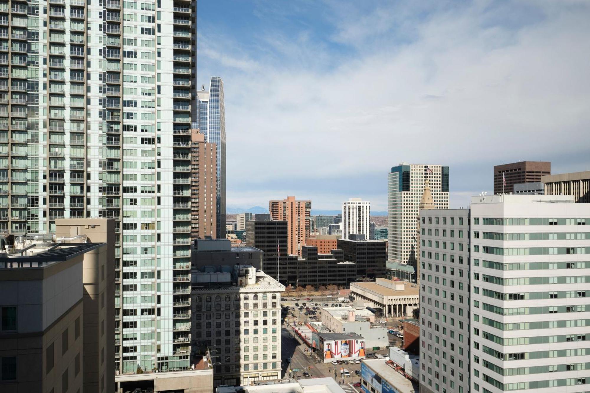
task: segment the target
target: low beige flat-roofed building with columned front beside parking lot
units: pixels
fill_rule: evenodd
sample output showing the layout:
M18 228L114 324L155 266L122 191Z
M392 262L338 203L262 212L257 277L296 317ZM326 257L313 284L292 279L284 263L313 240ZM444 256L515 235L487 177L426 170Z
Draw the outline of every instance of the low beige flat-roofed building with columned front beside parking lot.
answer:
M370 302L383 310L383 316L412 316L418 308L418 284L407 281L376 279L369 283L350 283L354 300Z

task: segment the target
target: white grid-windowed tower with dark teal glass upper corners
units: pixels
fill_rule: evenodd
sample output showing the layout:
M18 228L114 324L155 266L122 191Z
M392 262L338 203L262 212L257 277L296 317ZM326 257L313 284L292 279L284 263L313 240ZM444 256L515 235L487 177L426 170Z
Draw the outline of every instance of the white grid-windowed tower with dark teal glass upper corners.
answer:
M415 280L417 271L418 209L425 179L430 181L436 209L448 208L448 166L401 163L389 173L388 274Z

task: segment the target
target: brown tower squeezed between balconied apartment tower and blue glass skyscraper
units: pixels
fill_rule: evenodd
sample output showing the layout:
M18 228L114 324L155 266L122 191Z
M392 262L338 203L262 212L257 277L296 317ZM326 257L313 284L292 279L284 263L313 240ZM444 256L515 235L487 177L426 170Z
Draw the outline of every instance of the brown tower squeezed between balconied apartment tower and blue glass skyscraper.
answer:
M217 234L215 215L217 212L217 144L205 142L205 135L199 133L199 130L191 130L190 158L191 178L186 180L179 178L178 181L191 182L191 237L193 240L205 238L205 236L215 238ZM175 178L175 184L176 181ZM176 192L175 189L175 195ZM178 192L183 191L179 189Z

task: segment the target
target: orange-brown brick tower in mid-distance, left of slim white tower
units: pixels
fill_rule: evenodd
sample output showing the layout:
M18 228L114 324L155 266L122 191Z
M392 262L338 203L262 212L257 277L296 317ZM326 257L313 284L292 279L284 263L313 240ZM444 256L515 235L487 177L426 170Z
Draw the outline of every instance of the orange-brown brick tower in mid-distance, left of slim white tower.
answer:
M268 211L272 220L287 221L287 253L301 256L301 247L310 234L312 201L296 201L294 196L287 196L282 201L268 201Z

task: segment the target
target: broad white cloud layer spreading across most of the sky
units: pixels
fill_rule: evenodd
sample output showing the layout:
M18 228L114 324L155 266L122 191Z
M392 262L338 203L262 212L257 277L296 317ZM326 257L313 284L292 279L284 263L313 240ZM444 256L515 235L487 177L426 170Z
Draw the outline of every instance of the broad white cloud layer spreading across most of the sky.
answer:
M280 33L267 37L274 47L284 45L268 63L223 60L232 55L219 52L222 65L239 70L216 73L225 81L228 204L245 199L244 192L260 205L278 196L268 189L299 196L306 179L378 172L384 205L386 172L401 161L450 165L452 176L453 166L473 162L567 159L567 152L587 151L590 12L583 3L556 4L530 2L542 7L539 16L517 27L494 22L510 9L494 10L489 1L437 9L424 20L405 21L413 30L402 42L396 41L400 27L388 25L401 18L369 12L333 36L355 48L346 56L309 43L303 33L291 41ZM345 20L346 9L340 12L337 18ZM370 50L359 49L363 44ZM340 64L301 67L314 59ZM473 189L473 179L482 176L491 184L491 166L451 181L451 191ZM332 194L345 193L317 189L319 199Z

